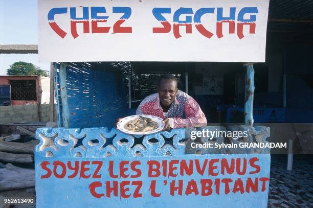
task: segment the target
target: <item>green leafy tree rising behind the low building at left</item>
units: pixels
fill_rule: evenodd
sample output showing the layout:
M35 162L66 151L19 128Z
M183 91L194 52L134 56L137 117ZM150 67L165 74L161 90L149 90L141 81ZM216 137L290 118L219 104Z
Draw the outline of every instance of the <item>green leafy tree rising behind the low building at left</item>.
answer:
M7 69L7 75L41 75L49 77L49 71L41 70L41 68L32 63L18 61Z

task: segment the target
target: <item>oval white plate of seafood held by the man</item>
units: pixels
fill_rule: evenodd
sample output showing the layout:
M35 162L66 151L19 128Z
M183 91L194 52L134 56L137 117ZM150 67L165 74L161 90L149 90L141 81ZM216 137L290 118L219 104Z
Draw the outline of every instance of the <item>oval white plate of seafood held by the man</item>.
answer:
M150 134L161 131L164 127L163 119L154 115L131 115L123 118L117 128L129 134Z

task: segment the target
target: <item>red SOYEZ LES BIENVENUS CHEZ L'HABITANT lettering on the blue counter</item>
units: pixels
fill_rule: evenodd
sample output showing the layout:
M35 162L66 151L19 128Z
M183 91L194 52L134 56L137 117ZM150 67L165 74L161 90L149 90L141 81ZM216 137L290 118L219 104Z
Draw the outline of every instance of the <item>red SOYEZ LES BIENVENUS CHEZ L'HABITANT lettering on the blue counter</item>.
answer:
M260 177L259 159L213 158L189 160L87 160L42 161L41 179L94 180L88 186L93 197L139 198L143 194L170 196L250 193L266 191L267 177ZM146 166L146 167L144 167ZM238 177L232 176L237 174ZM253 177L258 174L259 177ZM240 178L242 177L242 178ZM104 181L106 178L106 181ZM145 190L144 190L145 189ZM162 191L163 190L163 191Z

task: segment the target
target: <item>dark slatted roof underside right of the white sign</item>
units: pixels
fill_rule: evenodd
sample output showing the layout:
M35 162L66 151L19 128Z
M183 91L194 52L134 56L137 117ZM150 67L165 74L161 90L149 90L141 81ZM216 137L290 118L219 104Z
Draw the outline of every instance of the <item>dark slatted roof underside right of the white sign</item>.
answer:
M270 0L267 45L313 43L313 0Z

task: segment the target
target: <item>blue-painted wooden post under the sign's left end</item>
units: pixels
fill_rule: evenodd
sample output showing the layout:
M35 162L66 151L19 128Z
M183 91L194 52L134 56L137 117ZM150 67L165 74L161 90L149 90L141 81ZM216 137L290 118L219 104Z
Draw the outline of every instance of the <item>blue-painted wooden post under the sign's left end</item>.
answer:
M63 120L63 127L69 128L70 127L70 110L69 110L69 103L68 103L68 95L66 93L66 66L61 63L60 71L59 71L59 78L60 78L60 96L62 102L62 120Z

